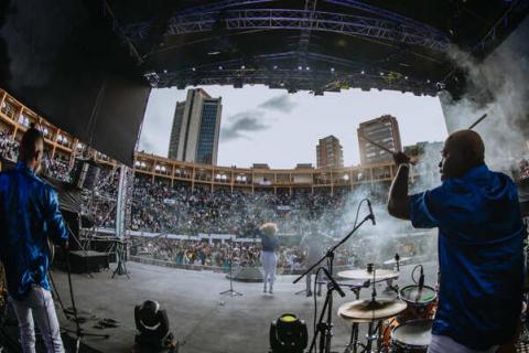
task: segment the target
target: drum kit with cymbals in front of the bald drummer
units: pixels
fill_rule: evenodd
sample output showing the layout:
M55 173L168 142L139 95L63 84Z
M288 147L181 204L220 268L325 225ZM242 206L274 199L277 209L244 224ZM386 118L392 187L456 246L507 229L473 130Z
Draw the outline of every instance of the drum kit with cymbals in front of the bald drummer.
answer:
M410 258L402 258L409 261ZM400 258L388 260L385 265L396 266L397 270L375 268L368 264L366 269L353 269L338 272L338 277L361 282L355 291L356 300L345 302L338 308L338 317L352 325L350 341L344 353L423 353L431 340L433 318L436 311L438 292L424 286L422 275L418 282L392 288L398 298L380 298L376 284L391 282L400 276ZM413 278L413 275L412 275ZM414 281L414 279L413 279ZM370 299L359 299L359 288L371 288ZM366 340L359 339L360 324L367 325Z

